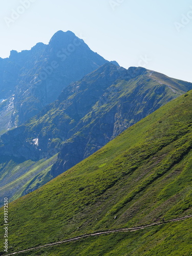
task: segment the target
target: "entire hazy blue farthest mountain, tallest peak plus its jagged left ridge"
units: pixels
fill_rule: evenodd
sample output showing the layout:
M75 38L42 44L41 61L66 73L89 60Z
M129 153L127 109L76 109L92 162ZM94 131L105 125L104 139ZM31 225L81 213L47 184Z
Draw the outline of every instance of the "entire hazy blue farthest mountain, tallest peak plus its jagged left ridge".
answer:
M38 43L29 51L11 51L0 58L0 99L14 95L10 129L36 115L45 105L57 99L72 81L81 79L106 63L71 31L58 31L49 45ZM0 110L1 111L1 110ZM0 115L7 116L1 111Z

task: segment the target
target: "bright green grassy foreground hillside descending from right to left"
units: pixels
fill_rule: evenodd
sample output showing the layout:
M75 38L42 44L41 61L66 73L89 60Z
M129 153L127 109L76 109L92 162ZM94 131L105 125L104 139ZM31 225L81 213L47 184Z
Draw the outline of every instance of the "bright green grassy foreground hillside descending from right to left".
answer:
M191 215L191 110L192 91L134 124L68 172L10 203L9 252ZM190 225L188 219L84 239L73 243L72 250L71 245L60 245L35 253L190 255ZM0 232L3 237L3 229Z

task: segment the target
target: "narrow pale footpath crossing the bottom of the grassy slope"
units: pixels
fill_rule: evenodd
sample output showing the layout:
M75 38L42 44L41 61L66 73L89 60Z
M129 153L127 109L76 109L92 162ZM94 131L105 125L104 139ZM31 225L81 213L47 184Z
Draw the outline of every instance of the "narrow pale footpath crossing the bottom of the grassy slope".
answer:
M115 232L126 232L126 231L132 231L132 230L137 231L137 230L140 230L140 229L144 229L146 227L162 225L162 224L166 224L166 223L169 223L169 222L180 221L180 220L184 220L184 219L191 218L191 217L192 217L192 215L189 215L189 216L185 216L185 217L181 217L181 218L173 219L173 220L168 220L168 221L164 221L164 222L155 222L155 223L152 223L152 224L149 224L149 225L145 225L145 226L140 226L140 227L121 228L121 229L102 231L102 232L97 232L97 233L92 233L92 234L85 234L85 235L80 236L80 237L69 238L67 240L63 240L63 241L56 242L56 243L41 245L41 246L33 247L33 248L30 248L30 249L27 249L27 250L17 251L17 252L13 252L13 253L10 253L10 254L5 254L5 256L14 255L14 254L17 254L17 253L27 252L27 251L31 251L31 250L36 250L36 249L44 248L44 247L47 247L47 246L53 246L53 245L57 245L57 244L73 242L73 241L79 240L81 238L87 238L87 237L91 237L91 236L92 237L94 237L94 236L101 236L102 234L110 234L110 233L115 233Z

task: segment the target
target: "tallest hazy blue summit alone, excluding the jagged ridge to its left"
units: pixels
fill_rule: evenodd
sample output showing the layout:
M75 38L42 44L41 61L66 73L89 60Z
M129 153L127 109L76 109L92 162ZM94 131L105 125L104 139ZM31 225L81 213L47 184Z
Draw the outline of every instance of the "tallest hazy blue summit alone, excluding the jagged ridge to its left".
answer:
M73 32L56 32L46 45L40 61L34 67L30 65L29 72L18 84L13 119L18 119L19 125L24 123L56 100L71 82L106 62Z

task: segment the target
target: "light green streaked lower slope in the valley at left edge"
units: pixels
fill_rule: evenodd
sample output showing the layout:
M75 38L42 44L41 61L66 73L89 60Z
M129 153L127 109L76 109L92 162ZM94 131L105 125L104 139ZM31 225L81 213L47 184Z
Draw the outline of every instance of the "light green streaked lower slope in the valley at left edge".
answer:
M10 201L13 201L53 179L50 171L57 160L57 155L49 159L41 159L37 162L28 160L18 163L14 160L10 160L4 165L4 172L1 173L1 198L4 198L6 194Z

